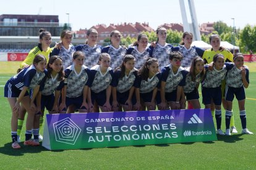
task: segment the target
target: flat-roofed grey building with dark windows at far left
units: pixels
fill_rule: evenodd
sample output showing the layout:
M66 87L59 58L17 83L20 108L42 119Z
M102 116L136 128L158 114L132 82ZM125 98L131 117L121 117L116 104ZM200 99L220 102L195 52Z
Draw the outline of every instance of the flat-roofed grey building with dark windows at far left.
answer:
M40 28L59 36L64 24L59 23L58 15L0 15L0 36L38 36Z

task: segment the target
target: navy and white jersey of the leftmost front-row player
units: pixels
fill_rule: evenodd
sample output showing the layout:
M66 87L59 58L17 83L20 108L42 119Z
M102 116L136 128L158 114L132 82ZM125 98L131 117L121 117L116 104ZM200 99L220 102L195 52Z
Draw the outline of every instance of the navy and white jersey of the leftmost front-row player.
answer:
M36 71L35 66L31 65L13 76L10 79L10 83L20 90L22 90L24 86L33 89L40 84L45 75L46 70L44 72Z

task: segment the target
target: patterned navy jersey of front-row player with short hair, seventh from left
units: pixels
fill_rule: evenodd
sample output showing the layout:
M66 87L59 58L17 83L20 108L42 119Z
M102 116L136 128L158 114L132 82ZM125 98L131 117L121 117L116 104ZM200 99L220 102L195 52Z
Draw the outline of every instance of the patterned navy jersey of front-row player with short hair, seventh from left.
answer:
M173 73L172 65L168 65L161 69L162 81L166 82L165 92L173 92L177 86L185 86L186 75L188 71L183 67L179 67L177 73Z

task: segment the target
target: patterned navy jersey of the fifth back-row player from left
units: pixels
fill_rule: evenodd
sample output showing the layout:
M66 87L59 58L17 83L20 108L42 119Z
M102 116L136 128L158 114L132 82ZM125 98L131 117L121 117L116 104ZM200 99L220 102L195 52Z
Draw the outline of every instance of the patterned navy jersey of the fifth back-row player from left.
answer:
M134 46L127 50L127 54L131 54L135 57L135 68L140 69L147 61L148 57L150 57L151 49L146 48L145 51L139 52L137 46Z

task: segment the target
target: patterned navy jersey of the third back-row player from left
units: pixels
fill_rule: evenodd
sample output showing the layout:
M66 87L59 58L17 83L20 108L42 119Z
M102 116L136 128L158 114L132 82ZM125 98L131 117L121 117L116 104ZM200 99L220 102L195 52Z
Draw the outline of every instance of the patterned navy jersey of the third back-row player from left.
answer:
M90 47L88 44L83 44L75 46L75 51L82 51L85 54L85 62L83 64L91 68L98 63L101 46L96 44L94 47Z

